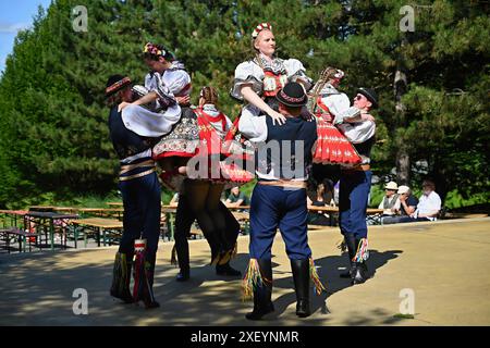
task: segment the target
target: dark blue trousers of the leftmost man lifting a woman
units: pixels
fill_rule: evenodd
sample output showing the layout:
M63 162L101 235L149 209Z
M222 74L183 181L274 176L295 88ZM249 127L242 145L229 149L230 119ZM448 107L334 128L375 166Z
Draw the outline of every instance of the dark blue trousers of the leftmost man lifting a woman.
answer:
M124 204L123 236L119 251L134 253L134 240L142 237L147 243L147 259L152 260L160 236L161 188L157 173L120 182L119 189Z

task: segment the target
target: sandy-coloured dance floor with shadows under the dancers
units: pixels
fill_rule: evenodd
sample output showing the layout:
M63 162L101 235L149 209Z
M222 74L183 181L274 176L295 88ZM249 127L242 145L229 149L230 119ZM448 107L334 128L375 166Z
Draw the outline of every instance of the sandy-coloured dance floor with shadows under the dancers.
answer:
M309 233L328 294L313 296L314 314L294 314L295 295L284 244L273 246L275 312L249 322L241 278L215 274L209 248L191 241L192 279L174 281L170 243L159 247L155 291L161 308L145 310L109 296L117 247L0 256L0 325L490 325L490 219L369 227L372 277L351 286L339 277L347 265L338 228ZM248 262L248 236L238 238L233 265ZM86 289L88 314L75 315L73 291ZM399 319L401 297L412 293L414 319ZM402 303L402 304L403 304ZM404 306L402 306L403 310Z

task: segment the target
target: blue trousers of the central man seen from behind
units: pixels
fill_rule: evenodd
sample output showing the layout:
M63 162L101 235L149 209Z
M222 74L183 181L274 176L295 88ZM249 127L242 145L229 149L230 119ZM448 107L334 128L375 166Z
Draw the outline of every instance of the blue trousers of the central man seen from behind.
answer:
M253 259L270 260L279 227L287 257L304 260L311 256L307 236L306 189L284 189L257 184L250 201L250 246Z

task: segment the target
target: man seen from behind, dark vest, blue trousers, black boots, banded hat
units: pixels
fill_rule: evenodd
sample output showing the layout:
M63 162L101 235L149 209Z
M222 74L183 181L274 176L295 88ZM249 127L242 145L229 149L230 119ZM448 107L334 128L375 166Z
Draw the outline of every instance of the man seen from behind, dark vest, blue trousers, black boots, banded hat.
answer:
M307 96L299 84L285 84L275 98L279 112L286 120L283 125L274 124L268 115L242 115L238 124L242 134L258 145L258 182L250 201L250 261L244 278L245 297L254 297L254 310L246 314L248 320L259 320L274 310L271 247L278 227L291 260L296 315L310 314L310 277L317 291L323 290L307 238L306 179L317 127L314 121L301 116Z

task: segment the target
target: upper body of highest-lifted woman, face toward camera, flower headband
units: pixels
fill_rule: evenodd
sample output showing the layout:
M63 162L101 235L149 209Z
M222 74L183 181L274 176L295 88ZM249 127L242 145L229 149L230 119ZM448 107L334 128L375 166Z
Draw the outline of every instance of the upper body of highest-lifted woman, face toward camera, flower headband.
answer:
M305 67L298 60L274 57L275 38L269 23L257 25L252 39L255 57L236 66L231 95L248 102L242 114L268 114L282 124L285 117L278 112L275 95L287 82L301 83L305 90L309 90L311 79L306 76Z

